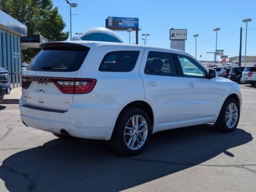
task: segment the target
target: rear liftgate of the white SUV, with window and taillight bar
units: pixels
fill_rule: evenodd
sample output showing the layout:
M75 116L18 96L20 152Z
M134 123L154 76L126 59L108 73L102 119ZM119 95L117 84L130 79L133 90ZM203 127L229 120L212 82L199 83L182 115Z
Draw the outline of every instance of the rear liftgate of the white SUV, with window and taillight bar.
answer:
M75 77L90 48L70 42L50 42L40 47L42 50L22 76L24 101L29 106L68 110L73 95L84 93L75 87L84 90L87 81Z

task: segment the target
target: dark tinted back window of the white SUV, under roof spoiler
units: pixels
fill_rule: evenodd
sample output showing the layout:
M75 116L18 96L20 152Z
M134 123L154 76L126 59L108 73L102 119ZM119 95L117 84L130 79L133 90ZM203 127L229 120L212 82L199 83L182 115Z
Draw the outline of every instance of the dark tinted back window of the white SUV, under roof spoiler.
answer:
M51 45L51 44L50 44ZM45 46L29 64L27 70L71 72L77 71L90 48L86 46Z

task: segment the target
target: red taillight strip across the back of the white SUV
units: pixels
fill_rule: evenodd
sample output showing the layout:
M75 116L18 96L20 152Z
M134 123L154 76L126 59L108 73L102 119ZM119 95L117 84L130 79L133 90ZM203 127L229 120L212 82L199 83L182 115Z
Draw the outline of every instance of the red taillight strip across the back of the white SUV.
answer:
M96 79L87 78L52 78L52 77L22 77L22 88L26 89L32 81L52 82L62 93L84 94L92 91L96 84Z

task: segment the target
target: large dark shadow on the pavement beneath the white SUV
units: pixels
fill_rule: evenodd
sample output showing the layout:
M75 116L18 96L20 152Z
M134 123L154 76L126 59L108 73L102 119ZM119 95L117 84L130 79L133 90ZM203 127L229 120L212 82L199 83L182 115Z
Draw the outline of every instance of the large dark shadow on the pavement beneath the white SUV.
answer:
M133 157L113 153L108 141L55 139L6 158L0 178L11 191L120 191L202 164L246 144L252 135L237 128L221 133L212 124L152 135ZM228 161L227 164L230 164Z

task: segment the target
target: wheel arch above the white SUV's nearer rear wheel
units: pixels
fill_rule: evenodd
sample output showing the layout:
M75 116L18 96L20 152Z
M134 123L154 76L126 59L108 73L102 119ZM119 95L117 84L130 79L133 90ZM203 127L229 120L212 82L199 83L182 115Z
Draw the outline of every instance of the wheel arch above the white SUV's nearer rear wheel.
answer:
M142 98L130 100L130 101L126 102L125 104L123 104L123 106L119 109L119 111L118 111L118 113L115 117L115 120L113 122L113 126L112 126L113 130L115 128L115 124L116 124L118 118L120 117L120 115L123 112L125 112L128 108L131 108L131 107L140 108L140 109L144 110L147 113L147 115L150 118L150 122L152 124L152 133L153 133L153 129L154 129L154 110L153 110L153 106L148 100L145 100L145 99L142 99Z

